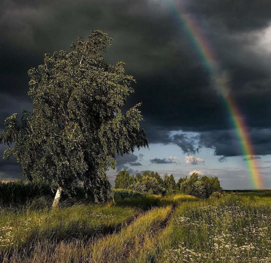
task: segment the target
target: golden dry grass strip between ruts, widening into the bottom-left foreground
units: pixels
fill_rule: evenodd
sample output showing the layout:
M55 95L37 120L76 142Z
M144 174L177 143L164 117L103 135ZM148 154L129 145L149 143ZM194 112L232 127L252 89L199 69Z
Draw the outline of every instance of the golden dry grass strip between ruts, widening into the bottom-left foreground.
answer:
M170 206L154 208L138 217L133 224L123 227L119 233L96 242L85 244L74 240L55 243L44 240L33 243L31 249L15 248L12 254L2 251L0 260L3 263L125 262L129 255L138 251L147 237L159 231L170 211Z

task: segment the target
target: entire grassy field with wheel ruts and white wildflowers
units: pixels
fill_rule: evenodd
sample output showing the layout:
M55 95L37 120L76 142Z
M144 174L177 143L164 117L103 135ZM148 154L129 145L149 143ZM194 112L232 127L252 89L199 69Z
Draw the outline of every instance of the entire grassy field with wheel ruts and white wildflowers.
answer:
M178 194L0 207L0 262L271 262L271 197Z

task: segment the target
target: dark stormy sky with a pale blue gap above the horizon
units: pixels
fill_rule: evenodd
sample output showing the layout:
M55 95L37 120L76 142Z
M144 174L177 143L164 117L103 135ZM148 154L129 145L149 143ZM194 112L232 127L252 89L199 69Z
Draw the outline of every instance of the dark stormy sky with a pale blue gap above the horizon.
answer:
M2 0L0 8L0 132L22 109L31 67L44 53L69 51L76 36L102 29L114 38L105 60L125 61L135 77L128 106L142 101L150 150L118 158L117 171L218 176L225 189L249 189L246 163L212 75L182 20L169 3L182 3L230 75L264 188L271 188L271 4L270 0ZM176 11L176 10L175 10ZM0 154L5 146L0 144ZM21 177L15 160L0 160L0 176Z

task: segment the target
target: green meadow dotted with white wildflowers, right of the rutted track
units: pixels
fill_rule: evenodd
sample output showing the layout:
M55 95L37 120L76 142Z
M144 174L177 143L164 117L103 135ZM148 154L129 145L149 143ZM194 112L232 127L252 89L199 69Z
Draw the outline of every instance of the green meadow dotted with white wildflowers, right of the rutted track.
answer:
M131 262L271 262L271 199L226 195L180 203Z

